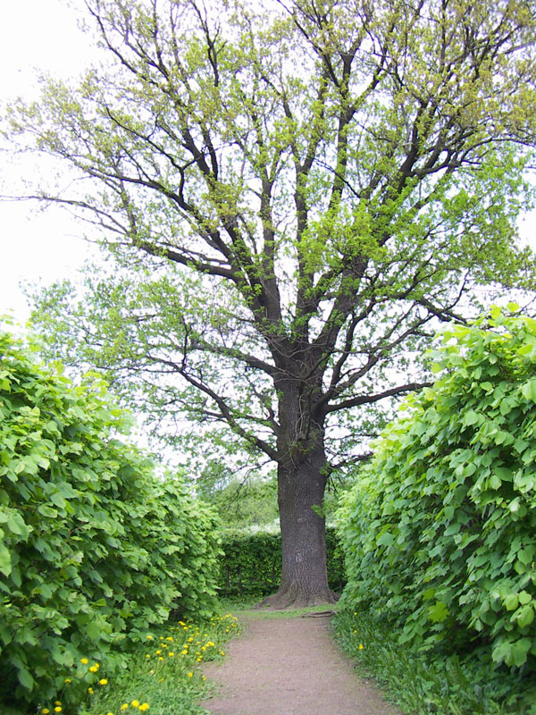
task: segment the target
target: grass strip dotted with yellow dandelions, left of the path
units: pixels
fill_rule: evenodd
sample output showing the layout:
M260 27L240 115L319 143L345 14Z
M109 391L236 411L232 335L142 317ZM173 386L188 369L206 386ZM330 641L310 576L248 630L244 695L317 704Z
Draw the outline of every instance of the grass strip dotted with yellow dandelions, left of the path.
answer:
M57 696L60 704L44 703L37 712L58 715L54 708L61 707L59 715L201 715L206 711L197 702L209 686L199 666L222 658L225 643L238 630L230 614L199 624L169 623L147 634L119 675L106 677L100 668L90 673L92 661L77 664L71 683Z

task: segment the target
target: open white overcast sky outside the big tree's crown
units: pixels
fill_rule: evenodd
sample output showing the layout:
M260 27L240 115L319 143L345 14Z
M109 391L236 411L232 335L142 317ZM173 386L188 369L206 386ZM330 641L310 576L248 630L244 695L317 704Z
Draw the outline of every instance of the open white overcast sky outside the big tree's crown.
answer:
M73 4L77 4L77 0ZM80 2L79 2L80 7ZM77 25L78 13L67 0L4 0L0 9L0 105L10 97L37 97L37 71L66 78L83 70L91 54ZM13 191L27 171L0 154L0 194ZM522 224L532 245L534 223ZM24 321L29 315L22 286L48 284L72 275L90 254L83 229L61 209L36 213L28 202L0 201L0 315L9 310Z

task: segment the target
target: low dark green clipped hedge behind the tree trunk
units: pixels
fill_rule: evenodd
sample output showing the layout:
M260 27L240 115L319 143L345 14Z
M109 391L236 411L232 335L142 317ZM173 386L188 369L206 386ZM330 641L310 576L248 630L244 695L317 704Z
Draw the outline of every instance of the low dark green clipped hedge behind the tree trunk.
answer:
M346 583L335 529L326 529L328 580L333 591ZM277 591L281 577L281 534L227 532L222 536L218 588L222 596L265 596Z

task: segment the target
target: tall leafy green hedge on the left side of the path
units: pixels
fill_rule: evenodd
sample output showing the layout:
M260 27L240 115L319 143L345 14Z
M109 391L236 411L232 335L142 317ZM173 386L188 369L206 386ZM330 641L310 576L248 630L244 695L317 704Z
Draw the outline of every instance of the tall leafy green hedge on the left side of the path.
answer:
M34 349L35 350L35 349ZM214 606L214 515L118 439L102 383L74 386L0 332L0 701L39 702L82 657Z

